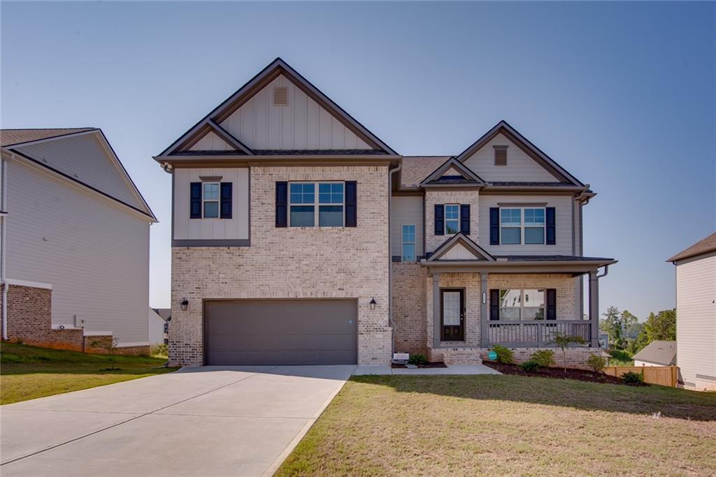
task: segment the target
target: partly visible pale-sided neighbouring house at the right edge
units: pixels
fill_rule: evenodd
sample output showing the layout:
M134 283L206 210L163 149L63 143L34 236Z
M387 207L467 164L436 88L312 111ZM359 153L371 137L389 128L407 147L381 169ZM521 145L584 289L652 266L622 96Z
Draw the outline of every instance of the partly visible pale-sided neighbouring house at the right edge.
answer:
M716 390L716 233L667 261L676 265L679 385Z

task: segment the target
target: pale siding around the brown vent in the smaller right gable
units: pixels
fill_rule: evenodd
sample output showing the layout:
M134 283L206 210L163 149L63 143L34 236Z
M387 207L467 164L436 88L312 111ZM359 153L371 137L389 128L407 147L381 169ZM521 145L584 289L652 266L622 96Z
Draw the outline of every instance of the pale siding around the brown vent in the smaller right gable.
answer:
M495 148L508 146L507 165L495 166ZM465 159L465 165L485 181L558 182L544 167L528 156L503 134L498 134L475 154Z

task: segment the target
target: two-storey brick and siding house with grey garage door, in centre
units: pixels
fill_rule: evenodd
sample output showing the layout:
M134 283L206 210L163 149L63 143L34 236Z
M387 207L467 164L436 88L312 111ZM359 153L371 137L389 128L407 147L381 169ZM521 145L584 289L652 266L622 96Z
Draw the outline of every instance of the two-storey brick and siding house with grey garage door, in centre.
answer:
M495 344L524 360L556 333L586 341L569 365L598 351L616 261L582 251L595 194L506 122L455 156L402 157L276 59L155 160L173 364L479 363Z

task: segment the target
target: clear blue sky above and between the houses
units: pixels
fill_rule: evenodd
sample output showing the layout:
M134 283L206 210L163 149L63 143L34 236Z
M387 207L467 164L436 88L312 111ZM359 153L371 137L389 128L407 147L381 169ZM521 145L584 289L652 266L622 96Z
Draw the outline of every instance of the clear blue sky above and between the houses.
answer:
M1 5L2 127L101 127L160 223L151 158L281 56L401 154L458 154L506 119L598 196L601 309L674 306L664 260L716 230L714 3Z

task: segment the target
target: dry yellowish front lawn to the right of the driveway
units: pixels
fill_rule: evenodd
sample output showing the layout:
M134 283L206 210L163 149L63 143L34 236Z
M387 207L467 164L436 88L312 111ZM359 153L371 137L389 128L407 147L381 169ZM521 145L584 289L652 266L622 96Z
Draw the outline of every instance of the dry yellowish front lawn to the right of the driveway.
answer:
M716 393L516 375L355 376L276 475L399 474L713 476Z

